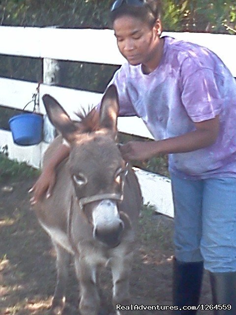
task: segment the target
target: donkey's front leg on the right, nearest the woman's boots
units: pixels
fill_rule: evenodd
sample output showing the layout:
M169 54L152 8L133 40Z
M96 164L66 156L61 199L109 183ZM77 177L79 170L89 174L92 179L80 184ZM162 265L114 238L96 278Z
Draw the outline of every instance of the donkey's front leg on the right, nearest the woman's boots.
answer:
M114 256L111 260L111 269L113 277L113 305L117 314L123 314L118 306L127 306L130 304L129 296L129 276L132 269L133 252Z

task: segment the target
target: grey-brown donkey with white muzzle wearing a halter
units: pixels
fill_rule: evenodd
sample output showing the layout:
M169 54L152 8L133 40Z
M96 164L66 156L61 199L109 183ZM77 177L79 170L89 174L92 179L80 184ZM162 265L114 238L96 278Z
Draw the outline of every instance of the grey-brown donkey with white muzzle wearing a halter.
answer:
M80 284L79 311L81 315L98 315L96 283L100 265L111 268L114 306L129 304L129 275L142 204L137 178L115 142L117 90L110 86L100 109L93 109L77 123L52 96L44 95L43 102L52 124L71 148L69 158L58 167L52 196L42 198L35 206L38 220L57 252L57 285L51 312L63 312L72 254ZM49 146L44 163L55 155L62 137Z

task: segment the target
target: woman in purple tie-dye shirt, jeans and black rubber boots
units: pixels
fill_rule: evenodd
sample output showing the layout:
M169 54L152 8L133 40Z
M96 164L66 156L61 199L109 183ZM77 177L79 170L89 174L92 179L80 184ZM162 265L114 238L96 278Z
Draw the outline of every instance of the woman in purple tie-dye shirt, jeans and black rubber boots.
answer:
M120 116L137 115L155 138L121 147L126 160L169 154L175 205L173 304L198 305L203 268L210 272L214 314L236 314L236 82L204 47L161 37L155 0L116 0L111 18L127 63L111 83ZM32 203L55 183L46 165ZM223 309L223 310L222 310ZM174 314L196 314L175 311Z

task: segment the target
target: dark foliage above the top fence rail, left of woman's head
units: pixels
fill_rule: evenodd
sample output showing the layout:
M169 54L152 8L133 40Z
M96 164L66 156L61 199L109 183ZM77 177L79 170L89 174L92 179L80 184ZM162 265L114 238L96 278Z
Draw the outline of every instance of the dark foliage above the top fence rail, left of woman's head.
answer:
M2 0L1 25L107 28L110 0Z

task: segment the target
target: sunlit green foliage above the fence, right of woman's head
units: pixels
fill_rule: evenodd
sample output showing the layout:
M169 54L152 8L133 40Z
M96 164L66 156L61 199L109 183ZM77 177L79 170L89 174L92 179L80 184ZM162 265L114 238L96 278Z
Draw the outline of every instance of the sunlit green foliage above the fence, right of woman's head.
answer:
M167 31L236 33L235 0L162 1Z

